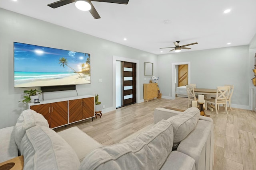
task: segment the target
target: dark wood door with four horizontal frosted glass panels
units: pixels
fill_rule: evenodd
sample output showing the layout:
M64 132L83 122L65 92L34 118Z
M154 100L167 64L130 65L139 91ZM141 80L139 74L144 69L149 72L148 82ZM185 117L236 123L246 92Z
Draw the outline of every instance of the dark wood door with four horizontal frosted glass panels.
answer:
M136 63L121 62L122 106L136 103Z

